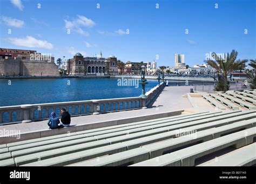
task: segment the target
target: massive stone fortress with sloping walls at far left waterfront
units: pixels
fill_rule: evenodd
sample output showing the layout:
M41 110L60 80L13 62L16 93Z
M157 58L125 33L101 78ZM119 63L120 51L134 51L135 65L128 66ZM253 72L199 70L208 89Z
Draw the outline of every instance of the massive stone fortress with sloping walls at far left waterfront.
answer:
M58 66L50 54L35 50L0 48L1 76L59 76Z

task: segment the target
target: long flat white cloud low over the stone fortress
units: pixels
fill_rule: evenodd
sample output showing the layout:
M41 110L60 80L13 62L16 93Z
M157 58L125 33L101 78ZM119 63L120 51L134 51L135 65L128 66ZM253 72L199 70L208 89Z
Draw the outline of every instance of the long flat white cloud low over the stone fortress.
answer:
M23 38L8 38L8 40L10 43L18 46L38 47L43 49L53 48L53 45L46 40L36 39L32 36L26 36Z

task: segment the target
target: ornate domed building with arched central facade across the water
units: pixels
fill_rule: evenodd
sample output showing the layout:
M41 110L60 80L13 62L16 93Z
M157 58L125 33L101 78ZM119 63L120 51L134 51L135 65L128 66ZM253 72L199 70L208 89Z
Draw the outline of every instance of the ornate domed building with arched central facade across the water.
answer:
M67 73L71 76L104 76L118 73L117 58L112 54L108 58L103 58L102 51L97 57L84 57L78 52L72 59L68 59L67 66Z

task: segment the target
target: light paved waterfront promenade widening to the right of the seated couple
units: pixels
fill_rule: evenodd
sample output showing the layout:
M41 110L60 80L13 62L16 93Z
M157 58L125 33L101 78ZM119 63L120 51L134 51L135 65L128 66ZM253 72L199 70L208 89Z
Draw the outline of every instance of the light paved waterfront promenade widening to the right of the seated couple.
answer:
M48 130L48 120L43 120L26 124L12 124L0 126L0 131L20 131L21 134L38 131L52 131L55 133L58 133L59 131L60 133L64 133L65 131L76 131L76 127L79 127L79 125L87 125L86 129L92 129L127 122L153 119L157 117L178 115L181 114L183 110L185 110L185 112L182 113L203 112L207 110L214 111L214 108L212 108L210 105L207 105L206 103L202 103L204 108L200 108L200 106L199 108L193 108L193 106L190 104L190 101L188 101L187 98L182 97L183 94L189 91L190 86L165 87L150 108L72 117L71 125L73 126L70 128L62 128L62 130ZM186 110L188 111L186 112Z

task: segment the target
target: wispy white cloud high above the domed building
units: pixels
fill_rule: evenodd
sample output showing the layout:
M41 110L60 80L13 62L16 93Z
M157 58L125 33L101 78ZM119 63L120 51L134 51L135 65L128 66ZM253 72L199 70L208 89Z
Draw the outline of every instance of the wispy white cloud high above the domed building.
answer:
M80 35L89 36L89 32L82 30L80 26L91 28L93 25L95 25L95 22L93 22L92 19L89 19L81 15L77 15L77 17L78 18L75 18L72 21L68 21L64 19L65 28L70 30L75 30Z

